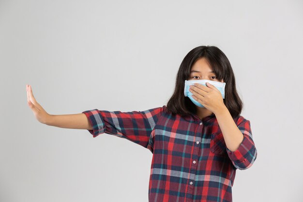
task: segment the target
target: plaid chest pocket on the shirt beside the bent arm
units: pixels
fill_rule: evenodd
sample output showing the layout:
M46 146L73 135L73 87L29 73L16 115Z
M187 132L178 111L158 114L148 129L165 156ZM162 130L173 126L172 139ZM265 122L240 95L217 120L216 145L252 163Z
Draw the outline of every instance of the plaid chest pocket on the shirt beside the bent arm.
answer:
M221 131L213 133L211 137L210 151L215 155L227 155L226 148L223 133Z

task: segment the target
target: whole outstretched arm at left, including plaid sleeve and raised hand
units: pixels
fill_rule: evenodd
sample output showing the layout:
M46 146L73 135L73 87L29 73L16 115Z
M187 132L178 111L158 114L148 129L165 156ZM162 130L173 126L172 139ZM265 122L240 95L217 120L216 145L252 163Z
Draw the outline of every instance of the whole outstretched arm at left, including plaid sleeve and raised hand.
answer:
M145 111L106 111L92 109L79 114L51 115L36 101L27 85L28 105L36 119L43 124L62 127L87 129L93 137L102 133L131 140L152 151L152 130L166 106Z

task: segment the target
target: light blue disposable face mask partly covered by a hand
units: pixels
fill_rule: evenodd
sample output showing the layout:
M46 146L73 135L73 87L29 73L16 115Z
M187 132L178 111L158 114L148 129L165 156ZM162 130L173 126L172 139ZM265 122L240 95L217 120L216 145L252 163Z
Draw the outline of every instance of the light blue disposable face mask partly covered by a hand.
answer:
M191 95L193 93L191 93L189 91L189 86L190 85L194 85L194 83L199 83L202 84L204 86L206 86L206 82L212 84L214 87L216 87L216 89L218 89L223 97L223 99L225 98L225 84L226 83L222 83L222 82L218 82L218 81L212 81L212 80L207 80L207 79L200 79L200 80L185 80L185 86L184 86L184 95L185 97L189 97L189 99L198 107L201 108L205 108L203 105L201 105L197 100L195 100Z

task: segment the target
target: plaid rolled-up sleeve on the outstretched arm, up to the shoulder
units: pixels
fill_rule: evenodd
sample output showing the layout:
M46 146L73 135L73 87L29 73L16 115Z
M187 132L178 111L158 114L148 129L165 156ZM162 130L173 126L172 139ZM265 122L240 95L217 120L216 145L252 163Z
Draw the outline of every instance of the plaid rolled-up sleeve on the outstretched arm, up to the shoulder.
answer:
M88 130L95 138L106 133L133 141L148 148L151 133L166 106L144 111L107 111L91 109L83 111L92 125Z

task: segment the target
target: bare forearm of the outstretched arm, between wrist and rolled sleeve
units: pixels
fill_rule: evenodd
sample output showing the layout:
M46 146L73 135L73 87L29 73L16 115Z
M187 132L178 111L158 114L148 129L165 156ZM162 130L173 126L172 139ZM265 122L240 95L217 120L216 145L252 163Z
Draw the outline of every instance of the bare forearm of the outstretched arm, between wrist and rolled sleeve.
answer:
M46 125L73 128L73 129L92 129L92 126L84 113L49 115L45 121Z

